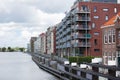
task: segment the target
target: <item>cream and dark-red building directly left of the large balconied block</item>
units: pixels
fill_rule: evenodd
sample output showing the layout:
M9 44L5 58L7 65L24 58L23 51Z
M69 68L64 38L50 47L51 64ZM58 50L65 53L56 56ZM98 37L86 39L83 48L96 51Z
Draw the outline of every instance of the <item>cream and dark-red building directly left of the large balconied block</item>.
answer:
M56 26L49 27L46 31L46 49L47 54L55 54L56 53Z

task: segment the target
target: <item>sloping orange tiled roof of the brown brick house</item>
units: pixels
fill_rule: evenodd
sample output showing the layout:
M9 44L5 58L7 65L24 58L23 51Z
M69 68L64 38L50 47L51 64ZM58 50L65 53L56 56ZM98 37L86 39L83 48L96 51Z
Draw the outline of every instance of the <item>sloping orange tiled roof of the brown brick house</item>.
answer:
M113 16L109 21L107 21L106 23L104 23L101 28L114 25L114 24L115 24L115 21L116 21L118 18L120 19L120 12L119 12L116 16Z

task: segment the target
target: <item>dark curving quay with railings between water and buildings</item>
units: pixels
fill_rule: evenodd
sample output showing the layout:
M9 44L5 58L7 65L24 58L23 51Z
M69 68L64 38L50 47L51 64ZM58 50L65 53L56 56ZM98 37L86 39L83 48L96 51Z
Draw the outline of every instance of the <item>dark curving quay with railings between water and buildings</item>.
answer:
M115 75L120 68L116 67L91 63L84 63L79 67L75 63L63 64L60 59L55 60L39 54L32 55L32 59L40 68L61 80L120 80L120 77ZM108 70L108 73L101 72L101 69Z

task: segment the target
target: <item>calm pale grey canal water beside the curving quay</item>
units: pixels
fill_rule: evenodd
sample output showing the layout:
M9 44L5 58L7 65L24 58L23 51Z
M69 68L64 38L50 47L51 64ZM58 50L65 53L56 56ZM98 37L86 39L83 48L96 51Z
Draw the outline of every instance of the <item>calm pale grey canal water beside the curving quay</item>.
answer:
M58 80L40 69L31 56L21 52L0 52L0 80Z

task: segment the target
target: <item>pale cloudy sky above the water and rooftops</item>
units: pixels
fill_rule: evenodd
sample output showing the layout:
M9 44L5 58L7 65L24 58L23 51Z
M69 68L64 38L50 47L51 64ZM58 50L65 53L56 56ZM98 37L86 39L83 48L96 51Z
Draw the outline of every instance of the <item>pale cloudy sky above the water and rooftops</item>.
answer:
M58 24L75 0L0 0L0 47L27 47Z

